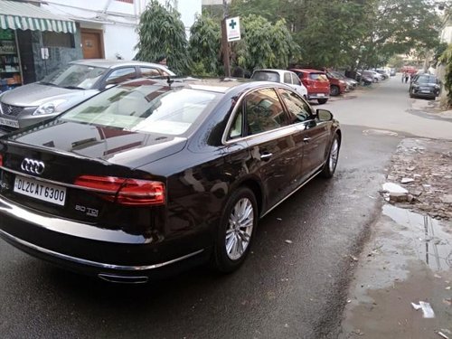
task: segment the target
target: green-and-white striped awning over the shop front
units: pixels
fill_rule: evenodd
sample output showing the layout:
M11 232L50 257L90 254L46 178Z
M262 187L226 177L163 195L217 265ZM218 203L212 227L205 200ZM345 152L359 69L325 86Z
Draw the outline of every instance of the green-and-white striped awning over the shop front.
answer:
M75 23L37 5L0 0L0 28L75 33Z

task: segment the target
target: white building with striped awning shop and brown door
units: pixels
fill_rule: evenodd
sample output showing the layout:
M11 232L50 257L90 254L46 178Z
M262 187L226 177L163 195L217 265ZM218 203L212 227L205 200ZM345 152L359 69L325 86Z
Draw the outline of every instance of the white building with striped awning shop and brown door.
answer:
M150 0L0 0L0 80L3 88L42 80L78 59L137 54L137 24ZM187 33L202 0L159 0L180 14Z

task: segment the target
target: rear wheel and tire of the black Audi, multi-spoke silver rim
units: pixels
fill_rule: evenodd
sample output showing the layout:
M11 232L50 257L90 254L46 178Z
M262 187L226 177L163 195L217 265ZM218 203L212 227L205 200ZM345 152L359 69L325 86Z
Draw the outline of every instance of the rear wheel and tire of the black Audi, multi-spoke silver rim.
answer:
M258 225L258 203L248 187L231 194L224 207L212 251L211 267L230 273L243 263Z

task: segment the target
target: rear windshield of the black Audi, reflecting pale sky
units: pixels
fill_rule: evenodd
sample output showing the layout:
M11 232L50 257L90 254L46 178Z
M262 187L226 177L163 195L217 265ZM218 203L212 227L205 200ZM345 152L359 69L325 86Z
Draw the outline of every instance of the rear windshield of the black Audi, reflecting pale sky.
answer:
M198 126L218 96L195 89L125 84L100 93L60 118L133 132L178 136Z

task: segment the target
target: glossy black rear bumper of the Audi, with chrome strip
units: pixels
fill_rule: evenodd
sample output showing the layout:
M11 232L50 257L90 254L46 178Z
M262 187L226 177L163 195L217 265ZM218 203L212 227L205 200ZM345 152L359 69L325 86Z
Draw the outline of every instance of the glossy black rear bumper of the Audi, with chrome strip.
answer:
M117 280L130 282L166 278L209 256L209 250L195 246L200 241L193 236L153 243L124 231L102 230L67 220L55 222L53 217L27 211L2 197L0 220L0 237L19 250L61 268L99 278L118 277ZM82 237L82 232L77 234L78 227L96 229L92 234L97 239Z

